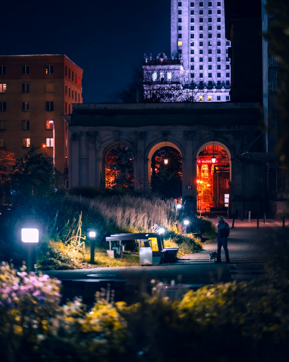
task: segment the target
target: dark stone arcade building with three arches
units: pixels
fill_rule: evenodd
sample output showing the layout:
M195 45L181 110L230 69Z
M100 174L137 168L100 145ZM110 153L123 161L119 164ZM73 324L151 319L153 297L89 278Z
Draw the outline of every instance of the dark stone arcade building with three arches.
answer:
M134 189L147 193L151 156L167 145L182 155L182 198L195 211L197 157L214 142L230 159L230 214L236 209L256 215L264 211L268 160L263 159L268 153L263 153L262 137L258 138L263 131L258 103L74 104L72 114L65 117L70 188L104 187L107 153L126 145L134 155ZM249 145L248 162L242 152Z

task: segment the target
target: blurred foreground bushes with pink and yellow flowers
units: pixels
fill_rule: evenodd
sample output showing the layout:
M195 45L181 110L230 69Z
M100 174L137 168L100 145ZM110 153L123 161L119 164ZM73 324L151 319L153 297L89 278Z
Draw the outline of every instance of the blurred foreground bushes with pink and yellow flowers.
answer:
M182 300L113 292L61 305L61 282L0 267L1 361L288 361L288 241L264 279L206 286ZM285 248L285 249L284 249ZM157 290L157 288L156 288Z

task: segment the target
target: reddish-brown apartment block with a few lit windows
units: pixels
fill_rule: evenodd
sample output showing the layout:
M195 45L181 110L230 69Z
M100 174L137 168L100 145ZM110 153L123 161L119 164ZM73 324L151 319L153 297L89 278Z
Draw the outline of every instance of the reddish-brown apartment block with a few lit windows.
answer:
M62 115L72 112L73 103L82 103L82 73L64 54L1 55L0 148L16 159L31 147L53 157L55 142L55 167L68 179L68 131Z

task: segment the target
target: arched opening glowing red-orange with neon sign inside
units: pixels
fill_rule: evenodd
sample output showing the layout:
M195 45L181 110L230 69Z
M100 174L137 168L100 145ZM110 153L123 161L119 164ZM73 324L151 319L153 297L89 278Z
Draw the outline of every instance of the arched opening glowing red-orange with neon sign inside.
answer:
M197 157L197 210L227 210L230 199L230 156L219 142L209 142Z

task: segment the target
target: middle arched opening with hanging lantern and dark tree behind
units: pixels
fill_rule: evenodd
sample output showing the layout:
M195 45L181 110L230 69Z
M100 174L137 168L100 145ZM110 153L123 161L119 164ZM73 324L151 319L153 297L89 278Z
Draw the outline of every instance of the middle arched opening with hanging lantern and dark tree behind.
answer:
M152 148L149 158L150 190L164 199L181 199L182 155L170 142L162 142Z

